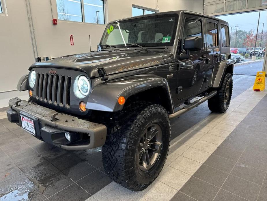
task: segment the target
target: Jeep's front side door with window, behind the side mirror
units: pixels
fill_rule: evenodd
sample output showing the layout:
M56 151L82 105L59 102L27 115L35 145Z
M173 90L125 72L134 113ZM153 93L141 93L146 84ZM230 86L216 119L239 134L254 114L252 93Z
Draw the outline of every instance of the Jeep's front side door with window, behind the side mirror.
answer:
M189 36L202 36L202 48L197 51L190 51L190 58L179 62L178 70L178 100L186 99L193 94L197 94L204 81L206 71L206 50L203 44L203 17L194 15L184 15L183 33L178 54L187 54L184 50L184 40Z

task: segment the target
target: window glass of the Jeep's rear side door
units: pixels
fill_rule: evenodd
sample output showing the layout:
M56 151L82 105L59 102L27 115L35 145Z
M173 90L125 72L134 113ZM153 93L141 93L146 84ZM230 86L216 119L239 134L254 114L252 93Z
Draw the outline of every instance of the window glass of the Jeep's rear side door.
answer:
M207 22L207 34L206 43L207 47L217 47L218 46L218 25L215 23Z

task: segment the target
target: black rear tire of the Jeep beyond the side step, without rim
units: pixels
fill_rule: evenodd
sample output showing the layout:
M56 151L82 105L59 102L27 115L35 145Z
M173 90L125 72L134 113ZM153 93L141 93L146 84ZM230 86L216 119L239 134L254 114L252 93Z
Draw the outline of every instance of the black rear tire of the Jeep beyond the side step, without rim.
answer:
M229 100L225 104L225 99L224 99L226 93L225 89L227 88L228 82L229 82ZM223 78L223 83L221 84L221 87L219 87L217 90L218 93L208 100L208 107L212 112L224 113L228 109L232 97L233 79L231 73L225 74Z

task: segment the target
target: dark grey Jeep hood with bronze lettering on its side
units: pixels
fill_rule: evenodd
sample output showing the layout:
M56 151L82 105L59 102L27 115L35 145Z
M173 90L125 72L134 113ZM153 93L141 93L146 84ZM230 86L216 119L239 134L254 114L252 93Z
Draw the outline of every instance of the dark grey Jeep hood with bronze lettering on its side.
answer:
M115 74L165 64L164 58L169 60L169 55L169 52L137 50L89 52L61 56L50 61L34 63L29 70L36 67L46 67L52 70L65 68L85 72L89 77L98 77L98 67L104 68L107 75Z

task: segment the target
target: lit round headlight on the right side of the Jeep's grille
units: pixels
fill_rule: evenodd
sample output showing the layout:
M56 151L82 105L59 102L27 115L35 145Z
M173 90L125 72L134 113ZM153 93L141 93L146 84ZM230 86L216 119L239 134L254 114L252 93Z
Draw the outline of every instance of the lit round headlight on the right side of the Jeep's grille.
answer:
M90 82L88 78L84 75L76 77L73 85L73 91L75 96L78 98L84 98L89 94Z

